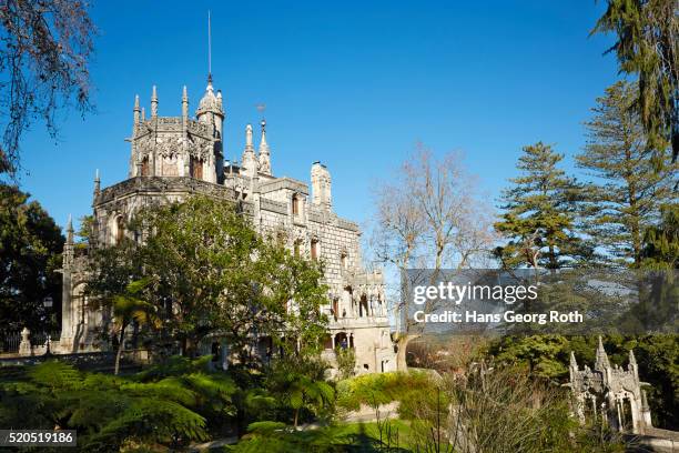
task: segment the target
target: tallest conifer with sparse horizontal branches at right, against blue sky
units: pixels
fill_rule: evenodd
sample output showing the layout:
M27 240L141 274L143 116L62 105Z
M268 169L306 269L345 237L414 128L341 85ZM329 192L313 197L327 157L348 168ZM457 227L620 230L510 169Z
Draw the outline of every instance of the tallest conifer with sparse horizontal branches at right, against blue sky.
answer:
M637 84L617 82L597 99L594 118L585 123L588 142L578 165L595 180L584 188L585 231L605 248L608 260L639 266L643 231L672 194L672 170L657 171L639 113L632 109Z

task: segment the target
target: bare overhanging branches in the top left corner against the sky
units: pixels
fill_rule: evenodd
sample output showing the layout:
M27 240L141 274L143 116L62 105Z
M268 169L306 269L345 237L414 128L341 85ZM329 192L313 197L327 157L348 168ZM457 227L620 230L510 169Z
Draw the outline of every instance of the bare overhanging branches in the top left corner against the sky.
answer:
M61 108L74 100L90 109L93 34L84 1L0 1L0 174L16 175L21 135L34 120L54 134Z

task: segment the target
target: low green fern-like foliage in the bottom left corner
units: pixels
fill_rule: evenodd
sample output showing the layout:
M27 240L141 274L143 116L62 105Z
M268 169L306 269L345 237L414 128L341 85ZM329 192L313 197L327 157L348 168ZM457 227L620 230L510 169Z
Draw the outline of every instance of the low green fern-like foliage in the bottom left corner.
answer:
M93 452L130 442L180 445L205 440L211 427L235 414L237 387L204 365L204 360L174 360L115 378L45 362L0 380L0 425L78 430L81 450Z

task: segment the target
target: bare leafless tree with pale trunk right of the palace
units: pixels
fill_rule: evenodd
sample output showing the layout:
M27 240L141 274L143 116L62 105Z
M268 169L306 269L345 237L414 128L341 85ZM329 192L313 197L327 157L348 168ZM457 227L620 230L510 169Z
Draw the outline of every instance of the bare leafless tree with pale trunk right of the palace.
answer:
M493 245L490 207L457 153L437 159L418 145L388 182L378 184L375 195L372 249L378 262L397 272L428 268L436 278L445 268L470 268ZM408 313L409 303L402 298L397 312ZM402 321L397 365L405 370L407 344L422 334L423 325L406 316Z

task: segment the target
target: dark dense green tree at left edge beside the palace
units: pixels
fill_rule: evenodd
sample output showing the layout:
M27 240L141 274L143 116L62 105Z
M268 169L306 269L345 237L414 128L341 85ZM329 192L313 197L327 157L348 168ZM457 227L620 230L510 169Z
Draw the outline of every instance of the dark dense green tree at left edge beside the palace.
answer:
M64 238L37 201L14 185L0 184L0 335L27 326L55 328L43 319L42 300L60 306Z

